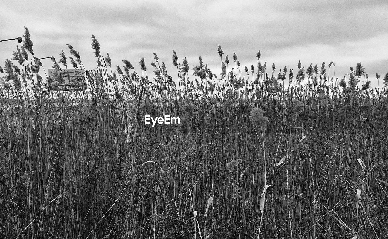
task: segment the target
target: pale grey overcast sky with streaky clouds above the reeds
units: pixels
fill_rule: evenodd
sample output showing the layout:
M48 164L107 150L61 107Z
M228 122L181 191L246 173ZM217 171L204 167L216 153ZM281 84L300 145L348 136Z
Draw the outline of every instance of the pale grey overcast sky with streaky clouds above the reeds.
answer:
M58 60L61 49L70 57L66 44L71 44L85 67L94 69L97 59L90 45L94 34L101 53L109 52L113 66L122 66L121 60L126 59L139 69L144 57L151 76L155 52L174 79L173 50L178 63L187 57L192 69L202 56L204 64L219 75L220 44L233 65L236 53L242 69L251 64L257 69L260 50L260 61L267 61L269 73L273 62L276 73L287 66L296 74L298 60L305 68L310 63L320 68L323 61L326 65L333 61L335 77L341 79L361 62L372 85L377 86L376 73L384 78L388 72L387 16L386 0L68 0L26 4L6 0L0 6L0 40L23 36L26 26L36 57ZM16 44L0 43L2 66L12 57ZM50 59L42 64L46 70L51 68ZM331 68L329 78L333 73Z

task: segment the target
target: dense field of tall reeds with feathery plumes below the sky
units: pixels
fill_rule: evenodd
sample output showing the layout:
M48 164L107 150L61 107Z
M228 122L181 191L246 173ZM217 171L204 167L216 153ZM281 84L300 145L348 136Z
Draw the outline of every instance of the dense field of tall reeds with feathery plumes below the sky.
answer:
M220 79L173 52L178 79L154 53L149 80L144 58L116 74L94 36L92 49L85 92L55 91L55 59L43 81L27 28L20 68L0 68L0 237L388 236L388 98L361 63L348 79L329 79L334 63L268 75L260 52L240 71L219 46Z

